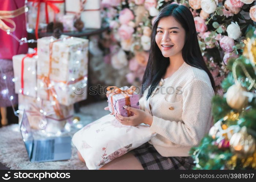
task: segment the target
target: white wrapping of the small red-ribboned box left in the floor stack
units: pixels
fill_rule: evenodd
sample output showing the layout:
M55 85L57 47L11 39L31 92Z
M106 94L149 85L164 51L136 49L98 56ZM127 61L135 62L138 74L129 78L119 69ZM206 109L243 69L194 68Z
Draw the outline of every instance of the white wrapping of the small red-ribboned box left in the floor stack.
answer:
M22 59L26 54L19 54L12 57L12 63L14 68L14 78L15 78L15 93L21 93L21 72L22 72ZM32 58L24 59L24 73L23 73L23 94L32 97L37 96L37 58L38 56L33 56Z

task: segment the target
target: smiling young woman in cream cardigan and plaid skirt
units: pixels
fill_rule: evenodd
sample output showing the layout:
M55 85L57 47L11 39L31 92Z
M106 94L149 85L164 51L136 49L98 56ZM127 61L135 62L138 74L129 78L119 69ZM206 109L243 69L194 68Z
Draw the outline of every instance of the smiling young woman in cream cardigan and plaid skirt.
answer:
M202 58L191 11L184 5L166 5L152 30L140 110L124 106L134 115L115 117L125 125L149 124L157 135L101 169L192 169L189 150L210 129L215 84Z

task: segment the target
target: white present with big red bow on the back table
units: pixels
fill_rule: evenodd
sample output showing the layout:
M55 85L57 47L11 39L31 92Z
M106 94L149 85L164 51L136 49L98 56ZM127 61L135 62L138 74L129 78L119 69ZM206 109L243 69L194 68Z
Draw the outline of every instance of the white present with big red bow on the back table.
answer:
M38 30L45 28L48 23L59 20L64 15L65 0L27 0L28 27L35 29L38 39Z

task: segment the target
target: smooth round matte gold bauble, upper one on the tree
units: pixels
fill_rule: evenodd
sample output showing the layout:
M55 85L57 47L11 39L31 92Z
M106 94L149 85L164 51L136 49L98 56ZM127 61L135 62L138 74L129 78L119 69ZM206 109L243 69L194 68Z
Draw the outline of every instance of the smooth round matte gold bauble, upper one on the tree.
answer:
M243 94L246 88L237 83L229 87L226 93L227 104L236 110L241 110L248 103L248 97Z

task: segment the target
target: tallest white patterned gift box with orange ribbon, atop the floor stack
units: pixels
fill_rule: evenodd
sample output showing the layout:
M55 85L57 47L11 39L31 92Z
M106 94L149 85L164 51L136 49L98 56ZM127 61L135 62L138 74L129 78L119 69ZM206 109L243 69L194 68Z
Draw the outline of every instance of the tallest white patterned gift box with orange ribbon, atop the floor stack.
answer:
M87 98L88 40L38 39L38 96L68 106Z

